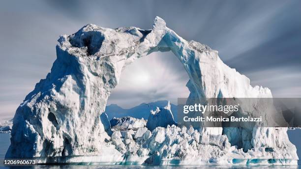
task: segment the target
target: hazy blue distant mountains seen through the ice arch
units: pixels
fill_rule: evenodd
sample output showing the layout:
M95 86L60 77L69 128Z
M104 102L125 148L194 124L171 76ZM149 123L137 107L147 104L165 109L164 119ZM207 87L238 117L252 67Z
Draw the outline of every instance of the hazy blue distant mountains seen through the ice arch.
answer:
M124 116L148 119L151 110L156 110L156 107L164 108L167 105L167 103L167 100L160 100L151 103L141 103L140 105L130 109L123 109L116 104L111 104L109 106L106 106L105 113L107 113L109 120L111 120L114 117ZM177 105L174 105L172 103L170 105L175 121L177 121Z

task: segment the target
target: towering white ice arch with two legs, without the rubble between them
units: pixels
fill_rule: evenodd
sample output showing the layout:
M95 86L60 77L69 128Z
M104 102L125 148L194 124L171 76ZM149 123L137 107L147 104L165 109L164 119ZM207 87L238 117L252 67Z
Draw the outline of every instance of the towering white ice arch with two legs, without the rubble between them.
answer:
M105 132L108 126L99 116L122 69L156 51L172 51L180 59L190 78L186 84L190 101L220 96L272 97L268 88L252 87L247 77L224 64L217 51L184 40L159 17L150 30L87 25L75 34L62 35L58 41L51 72L16 111L6 158L38 157L46 163L68 162L67 156L97 155L99 161L119 161L120 153L105 142L110 139ZM273 147L277 159L295 163L296 148L286 130L253 129L249 143L256 151ZM208 138L208 144L221 134L222 128L202 129L202 138ZM62 161L55 157L62 157Z

